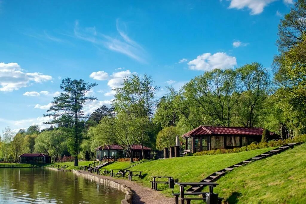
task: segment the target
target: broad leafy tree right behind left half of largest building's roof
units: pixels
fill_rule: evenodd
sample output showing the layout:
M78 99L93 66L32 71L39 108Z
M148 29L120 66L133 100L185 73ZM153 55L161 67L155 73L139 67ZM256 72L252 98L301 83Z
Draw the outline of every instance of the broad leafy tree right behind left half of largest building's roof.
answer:
M230 126L237 92L236 72L213 69L196 76L183 86L182 101L188 107L188 120L193 127L201 124Z

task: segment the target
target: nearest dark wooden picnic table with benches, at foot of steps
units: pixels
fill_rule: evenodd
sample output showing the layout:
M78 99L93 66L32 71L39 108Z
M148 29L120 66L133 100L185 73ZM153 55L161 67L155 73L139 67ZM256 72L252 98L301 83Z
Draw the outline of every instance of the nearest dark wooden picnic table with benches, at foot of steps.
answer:
M181 204L185 203L185 200L187 201L187 204L190 204L191 200L209 200L209 204L215 204L220 201L222 201L223 198L218 198L217 194L214 194L213 190L214 187L216 187L218 184L213 183L213 182L190 182L190 183L177 183L175 184L180 186L180 197L181 197ZM209 187L209 192L194 192L194 193L188 193L185 192L185 187L186 186L191 186L191 187L198 187L198 186L208 186ZM178 195L175 195L175 203L178 203ZM196 198L185 198L185 195L202 195L202 198L196 197Z

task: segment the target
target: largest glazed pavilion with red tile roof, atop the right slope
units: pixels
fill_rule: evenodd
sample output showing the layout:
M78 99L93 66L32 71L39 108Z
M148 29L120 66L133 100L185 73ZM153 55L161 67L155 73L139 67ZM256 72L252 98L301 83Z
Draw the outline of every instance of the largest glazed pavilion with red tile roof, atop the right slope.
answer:
M186 140L186 150L194 153L203 150L243 147L252 142L260 142L262 134L263 128L200 125L182 137ZM279 138L279 135L270 132L269 139Z

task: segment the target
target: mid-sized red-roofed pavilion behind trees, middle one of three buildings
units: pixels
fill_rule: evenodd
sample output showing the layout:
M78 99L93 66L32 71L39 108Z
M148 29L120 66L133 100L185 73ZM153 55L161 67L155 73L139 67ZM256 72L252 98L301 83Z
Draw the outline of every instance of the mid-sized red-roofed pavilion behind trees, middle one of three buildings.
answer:
M96 159L100 159L103 157L125 157L125 152L124 149L117 144L109 144L109 145L102 145L97 148L96 150ZM144 146L144 155L146 158L150 158L150 152L151 148L145 147ZM139 158L142 159L142 154L141 154L141 146L139 144L133 144L132 145L132 155L133 158Z

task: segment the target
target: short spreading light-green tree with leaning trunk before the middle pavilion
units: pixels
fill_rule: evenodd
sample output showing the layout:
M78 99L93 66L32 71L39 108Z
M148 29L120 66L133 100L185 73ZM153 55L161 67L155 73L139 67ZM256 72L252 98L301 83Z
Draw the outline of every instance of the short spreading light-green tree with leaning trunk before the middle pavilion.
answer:
M117 144L128 154L133 162L132 147L139 139L141 119L131 117L125 111L115 117L104 117L96 127L90 127L88 134L95 146L102 144ZM138 124L138 125L137 125Z

